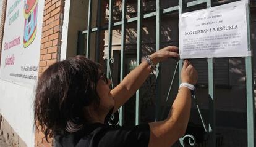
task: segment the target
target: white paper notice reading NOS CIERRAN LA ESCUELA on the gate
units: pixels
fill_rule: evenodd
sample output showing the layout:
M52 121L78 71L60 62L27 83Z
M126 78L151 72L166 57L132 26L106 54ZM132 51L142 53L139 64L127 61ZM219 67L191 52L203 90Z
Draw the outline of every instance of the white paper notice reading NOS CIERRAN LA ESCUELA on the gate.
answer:
M179 18L181 58L246 57L246 2L232 2L182 14Z

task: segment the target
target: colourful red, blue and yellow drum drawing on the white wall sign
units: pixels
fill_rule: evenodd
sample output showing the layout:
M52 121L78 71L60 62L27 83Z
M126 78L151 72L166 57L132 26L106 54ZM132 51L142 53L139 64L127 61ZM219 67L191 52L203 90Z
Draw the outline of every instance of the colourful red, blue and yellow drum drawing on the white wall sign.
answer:
M23 46L26 48L36 37L38 0L24 0L24 38Z

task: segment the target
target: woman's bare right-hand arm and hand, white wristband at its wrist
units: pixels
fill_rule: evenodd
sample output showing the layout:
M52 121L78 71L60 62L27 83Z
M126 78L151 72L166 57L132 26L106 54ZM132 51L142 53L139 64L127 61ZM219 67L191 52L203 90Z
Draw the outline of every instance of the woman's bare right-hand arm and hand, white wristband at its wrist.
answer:
M197 71L187 61L181 71L181 81L195 85L197 82ZM169 111L169 116L164 121L151 122L150 141L148 146L171 146L181 138L187 129L191 108L191 90L181 87L173 105Z

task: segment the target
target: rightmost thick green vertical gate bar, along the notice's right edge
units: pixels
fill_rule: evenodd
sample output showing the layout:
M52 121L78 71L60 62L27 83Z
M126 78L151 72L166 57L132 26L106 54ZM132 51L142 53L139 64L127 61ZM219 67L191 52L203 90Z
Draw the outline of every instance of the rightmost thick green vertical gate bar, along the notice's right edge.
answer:
M247 4L247 35L248 35L248 50L251 52L251 44L250 44L250 1ZM245 66L246 66L246 96L247 96L247 145L248 147L255 146L255 113L254 113L254 82L253 82L253 65L252 65L252 57L245 58Z

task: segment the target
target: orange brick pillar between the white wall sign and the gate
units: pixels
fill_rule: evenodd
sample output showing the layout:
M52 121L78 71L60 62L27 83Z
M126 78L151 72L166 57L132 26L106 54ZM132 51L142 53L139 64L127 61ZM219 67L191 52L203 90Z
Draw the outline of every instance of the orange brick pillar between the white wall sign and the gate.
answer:
M45 0L43 28L40 49L39 76L54 62L59 60L62 23L64 18L64 0ZM40 130L35 132L35 146L53 146L48 143Z

